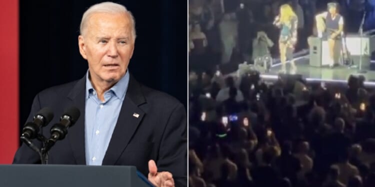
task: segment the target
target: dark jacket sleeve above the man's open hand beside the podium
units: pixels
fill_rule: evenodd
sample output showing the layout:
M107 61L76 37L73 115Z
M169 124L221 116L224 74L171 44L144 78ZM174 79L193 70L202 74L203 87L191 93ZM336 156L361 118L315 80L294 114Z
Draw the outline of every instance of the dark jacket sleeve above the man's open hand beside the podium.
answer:
M186 127L186 112L178 103L165 126L156 162L158 172L167 171L173 175L175 187L187 186Z

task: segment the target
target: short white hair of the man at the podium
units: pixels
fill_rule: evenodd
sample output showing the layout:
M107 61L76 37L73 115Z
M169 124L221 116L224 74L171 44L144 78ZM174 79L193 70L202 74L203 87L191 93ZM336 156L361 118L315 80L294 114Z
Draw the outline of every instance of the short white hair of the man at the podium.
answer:
M126 9L125 6L123 6L121 4L114 3L114 2L100 2L100 3L97 3L97 4L94 4L94 5L90 6L83 13L82 20L80 21L79 32L80 32L81 35L86 28L88 18L94 13L112 13L112 14L125 13L125 14L128 14L129 17L130 17L130 23L131 23L131 27L132 27L131 28L131 36L132 36L132 39L135 40L135 37L136 37L135 19L134 19L133 15L131 14L131 12L129 10Z

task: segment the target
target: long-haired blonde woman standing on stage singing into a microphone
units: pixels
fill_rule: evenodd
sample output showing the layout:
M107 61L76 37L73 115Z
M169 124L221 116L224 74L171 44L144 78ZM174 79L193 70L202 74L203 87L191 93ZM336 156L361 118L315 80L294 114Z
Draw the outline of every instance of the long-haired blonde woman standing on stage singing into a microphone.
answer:
M295 74L296 66L292 59L292 52L297 43L297 25L298 18L289 4L280 6L280 15L276 16L273 24L281 29L278 46L280 50L281 70L280 73L286 73L286 58L290 61L290 74Z

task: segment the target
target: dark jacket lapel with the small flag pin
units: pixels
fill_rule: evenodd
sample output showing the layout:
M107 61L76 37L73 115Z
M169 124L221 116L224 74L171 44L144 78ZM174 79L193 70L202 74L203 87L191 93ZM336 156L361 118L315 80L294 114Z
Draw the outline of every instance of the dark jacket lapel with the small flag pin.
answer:
M145 113L138 107L145 103L139 83L131 76L118 115L117 123L105 153L102 165L115 165L128 145Z

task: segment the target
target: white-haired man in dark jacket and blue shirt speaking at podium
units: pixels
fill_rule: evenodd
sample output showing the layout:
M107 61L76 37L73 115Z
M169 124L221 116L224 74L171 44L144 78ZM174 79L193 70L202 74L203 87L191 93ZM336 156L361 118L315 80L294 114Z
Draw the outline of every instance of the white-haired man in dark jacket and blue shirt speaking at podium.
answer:
M88 8L78 36L79 52L88 62L86 75L38 93L28 121L43 107L54 114L69 106L81 112L67 137L49 151L48 164L131 165L157 187L186 186L185 110L176 99L131 76L127 66L134 50L134 23L120 4L102 2ZM39 162L24 144L13 161Z

